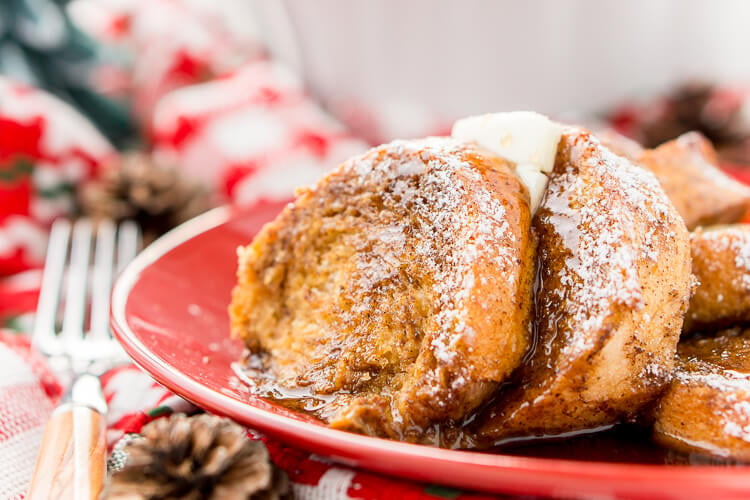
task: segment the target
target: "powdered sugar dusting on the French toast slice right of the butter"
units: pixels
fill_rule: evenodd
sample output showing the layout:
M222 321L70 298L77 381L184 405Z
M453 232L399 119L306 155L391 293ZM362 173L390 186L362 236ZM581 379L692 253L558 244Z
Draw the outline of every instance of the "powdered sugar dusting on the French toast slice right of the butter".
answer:
M571 340L579 342L566 346L567 355L591 347L597 337L575 332L601 329L613 303L644 307L638 262L656 263L660 241L674 236L666 196L650 172L593 137L572 140L586 142L570 146L579 158L556 170L540 210L542 224L568 255L557 276L564 286L551 297L564 304ZM547 317L546 329L556 332L559 319Z

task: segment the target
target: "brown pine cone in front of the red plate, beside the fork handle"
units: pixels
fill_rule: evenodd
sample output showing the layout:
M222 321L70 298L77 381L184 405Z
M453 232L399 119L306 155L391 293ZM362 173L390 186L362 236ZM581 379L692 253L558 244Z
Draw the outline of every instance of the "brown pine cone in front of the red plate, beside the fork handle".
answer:
M125 445L125 466L107 500L245 500L292 498L286 474L231 420L173 415L146 425L143 438Z

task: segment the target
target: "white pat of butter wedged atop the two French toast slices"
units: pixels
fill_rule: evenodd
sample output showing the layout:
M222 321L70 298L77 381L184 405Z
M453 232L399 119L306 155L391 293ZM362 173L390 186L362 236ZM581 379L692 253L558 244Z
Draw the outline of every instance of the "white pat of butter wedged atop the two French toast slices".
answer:
M516 164L516 174L529 190L531 211L536 211L547 188L562 126L532 111L471 116L453 124L451 135L475 142Z

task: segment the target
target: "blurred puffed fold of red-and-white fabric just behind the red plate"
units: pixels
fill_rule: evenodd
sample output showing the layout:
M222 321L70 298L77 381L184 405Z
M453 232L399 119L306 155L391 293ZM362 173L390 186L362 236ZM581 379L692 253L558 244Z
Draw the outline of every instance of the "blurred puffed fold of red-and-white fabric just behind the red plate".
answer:
M367 148L294 75L266 61L167 95L153 131L158 160L179 165L234 203L288 198Z

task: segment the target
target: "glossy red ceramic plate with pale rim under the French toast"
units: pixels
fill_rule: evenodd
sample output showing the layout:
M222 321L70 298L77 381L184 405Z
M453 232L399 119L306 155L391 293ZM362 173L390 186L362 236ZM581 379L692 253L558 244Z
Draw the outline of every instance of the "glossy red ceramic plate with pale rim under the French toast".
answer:
M133 360L198 406L294 446L411 480L489 492L589 498L750 498L750 467L640 465L452 451L328 429L249 394L231 363L227 304L236 248L282 204L218 209L164 236L127 267L112 303Z

